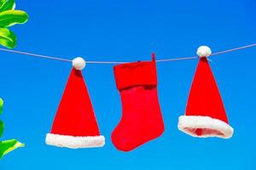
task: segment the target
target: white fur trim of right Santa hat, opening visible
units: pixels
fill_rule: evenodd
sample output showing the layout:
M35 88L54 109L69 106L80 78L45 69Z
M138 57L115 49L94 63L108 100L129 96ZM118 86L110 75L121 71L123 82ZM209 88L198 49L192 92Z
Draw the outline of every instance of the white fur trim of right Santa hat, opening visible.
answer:
M210 116L179 116L177 127L183 133L199 138L218 137L230 139L234 133L234 129L228 123ZM202 131L204 129L205 133L197 135L195 130L198 128L202 128Z

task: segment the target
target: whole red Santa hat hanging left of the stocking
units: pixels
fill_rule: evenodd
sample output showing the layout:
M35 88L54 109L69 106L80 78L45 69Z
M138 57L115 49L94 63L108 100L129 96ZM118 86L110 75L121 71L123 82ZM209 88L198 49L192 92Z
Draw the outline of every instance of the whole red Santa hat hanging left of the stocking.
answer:
M82 75L84 66L84 59L73 59L73 69L51 132L46 135L46 144L72 149L102 147L105 144Z

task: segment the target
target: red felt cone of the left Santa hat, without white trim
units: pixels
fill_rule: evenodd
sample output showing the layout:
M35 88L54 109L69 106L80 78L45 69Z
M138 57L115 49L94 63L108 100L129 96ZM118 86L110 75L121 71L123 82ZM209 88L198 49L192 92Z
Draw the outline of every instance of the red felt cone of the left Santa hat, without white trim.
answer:
M83 137L100 135L81 71L71 71L51 133Z

